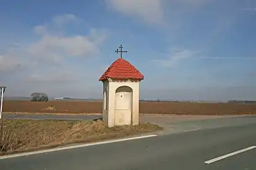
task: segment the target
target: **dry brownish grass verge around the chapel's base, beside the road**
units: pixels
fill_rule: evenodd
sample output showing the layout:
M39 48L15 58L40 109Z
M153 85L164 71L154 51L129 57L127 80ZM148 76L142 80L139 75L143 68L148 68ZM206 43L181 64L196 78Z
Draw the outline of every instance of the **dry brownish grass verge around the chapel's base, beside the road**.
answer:
M103 139L149 133L161 130L158 125L106 127L103 121L66 120L1 120L0 155L6 153L36 150L45 147L62 146L77 142L91 142ZM2 135L3 134L3 135Z

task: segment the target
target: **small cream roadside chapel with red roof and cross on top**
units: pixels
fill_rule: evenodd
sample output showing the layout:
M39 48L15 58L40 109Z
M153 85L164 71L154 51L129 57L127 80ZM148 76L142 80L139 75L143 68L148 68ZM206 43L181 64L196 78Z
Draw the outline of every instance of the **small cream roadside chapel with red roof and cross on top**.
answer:
M144 76L130 62L120 57L114 61L99 81L103 82L103 121L108 127L139 124L139 83Z

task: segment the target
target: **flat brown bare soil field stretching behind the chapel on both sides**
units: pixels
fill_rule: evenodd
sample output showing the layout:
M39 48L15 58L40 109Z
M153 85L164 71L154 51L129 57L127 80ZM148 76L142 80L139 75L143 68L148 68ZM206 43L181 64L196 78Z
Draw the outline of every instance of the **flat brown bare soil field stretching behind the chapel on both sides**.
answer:
M3 111L9 113L102 113L102 102L83 101L4 101ZM256 105L232 103L140 102L141 114L256 114Z

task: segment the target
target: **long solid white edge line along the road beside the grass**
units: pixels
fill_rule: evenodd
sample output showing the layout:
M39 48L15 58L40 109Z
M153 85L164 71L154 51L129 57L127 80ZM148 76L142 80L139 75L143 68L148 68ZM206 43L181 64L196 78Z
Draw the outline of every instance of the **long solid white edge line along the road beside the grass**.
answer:
M100 145L100 144L109 144L109 143L114 143L114 142L130 141L130 140L134 140L134 139L150 138L150 137L155 137L155 136L157 136L157 135L146 135L146 136L138 136L138 137L133 137L133 138L114 139L114 140L110 140L110 141L93 142L93 143L89 143L89 144L79 144L79 145L75 145L75 146L66 146L66 147L58 147L58 148L53 148L53 149L38 150L38 151L34 151L34 152L17 153L17 154L13 154L13 155L2 156L2 157L0 157L0 160L4 160L7 158L23 157L23 156L34 155L34 154L39 154L39 153L55 152L58 150L75 149L75 148L79 148L79 147L88 147L88 146L95 146L95 145Z

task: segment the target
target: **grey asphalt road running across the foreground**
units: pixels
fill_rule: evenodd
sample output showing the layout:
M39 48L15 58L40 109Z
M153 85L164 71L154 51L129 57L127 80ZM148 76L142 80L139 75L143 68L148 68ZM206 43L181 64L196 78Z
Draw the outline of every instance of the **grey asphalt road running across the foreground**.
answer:
M186 130L193 126L198 128ZM176 122L174 127L180 131L152 138L0 159L0 169L256 169L256 149L204 163L256 146L256 117Z

